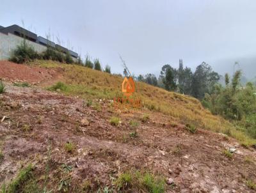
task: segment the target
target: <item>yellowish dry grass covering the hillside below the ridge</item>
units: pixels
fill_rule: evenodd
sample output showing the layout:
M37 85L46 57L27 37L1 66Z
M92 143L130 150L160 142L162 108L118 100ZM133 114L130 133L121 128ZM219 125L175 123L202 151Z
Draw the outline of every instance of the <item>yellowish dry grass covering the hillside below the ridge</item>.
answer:
M123 77L99 72L78 65L64 65L52 61L38 61L36 65L47 68L62 68L64 86L60 92L72 96L113 99L121 96ZM56 89L56 88L55 88ZM59 91L59 90L58 90ZM220 116L214 116L201 105L196 98L165 91L143 82L136 82L136 98L141 98L143 107L150 111L162 112L170 116L170 122L191 124L214 132L221 132L236 138L244 146L256 143L244 134L243 128L237 128ZM140 109L138 109L140 111Z

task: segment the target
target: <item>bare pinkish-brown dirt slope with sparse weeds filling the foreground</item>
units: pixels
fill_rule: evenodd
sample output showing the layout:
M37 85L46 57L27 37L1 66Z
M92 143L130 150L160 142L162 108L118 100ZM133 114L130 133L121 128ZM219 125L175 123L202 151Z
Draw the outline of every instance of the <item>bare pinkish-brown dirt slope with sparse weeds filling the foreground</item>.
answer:
M8 85L0 102L1 118L7 117L0 123L4 154L0 184L29 162L39 177L44 175L51 147L49 187L53 192L61 180L62 164L72 166L70 192L84 180L92 181L92 192L111 186L110 176L115 178L127 169L172 178L176 186L167 185L166 192L255 192L245 181L256 180L256 151L221 134L202 129L190 134L184 125L172 124L170 117L145 109L119 112L122 123L115 127L109 124L116 114L109 101L97 101L102 106L97 112L82 99L35 88ZM150 119L143 123L140 118L145 112ZM82 126L83 119L90 125ZM136 138L129 136L134 131L129 120L140 122ZM67 142L76 145L72 153L64 149ZM237 150L232 158L222 153L228 147ZM248 163L245 157L253 161Z

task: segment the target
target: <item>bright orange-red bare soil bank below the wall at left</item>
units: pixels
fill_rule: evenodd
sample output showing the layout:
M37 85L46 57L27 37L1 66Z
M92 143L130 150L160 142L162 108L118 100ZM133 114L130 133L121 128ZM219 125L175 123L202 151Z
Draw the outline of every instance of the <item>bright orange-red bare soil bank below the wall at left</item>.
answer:
M56 68L58 70L58 68ZM40 66L19 65L10 61L0 61L0 79L38 83L55 79L56 69L41 68Z

